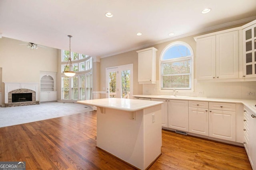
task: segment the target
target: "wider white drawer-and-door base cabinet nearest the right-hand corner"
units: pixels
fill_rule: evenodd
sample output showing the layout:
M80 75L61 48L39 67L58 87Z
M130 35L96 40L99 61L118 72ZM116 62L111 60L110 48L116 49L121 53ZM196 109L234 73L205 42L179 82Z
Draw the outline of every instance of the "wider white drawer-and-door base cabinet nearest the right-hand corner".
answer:
M236 104L209 102L209 136L236 141Z

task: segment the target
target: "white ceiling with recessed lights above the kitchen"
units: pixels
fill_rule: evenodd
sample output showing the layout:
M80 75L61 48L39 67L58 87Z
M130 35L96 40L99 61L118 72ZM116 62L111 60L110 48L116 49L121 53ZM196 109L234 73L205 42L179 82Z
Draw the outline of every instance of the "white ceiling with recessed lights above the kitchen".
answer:
M256 0L0 0L3 37L69 50L72 35L71 51L94 57L255 19Z

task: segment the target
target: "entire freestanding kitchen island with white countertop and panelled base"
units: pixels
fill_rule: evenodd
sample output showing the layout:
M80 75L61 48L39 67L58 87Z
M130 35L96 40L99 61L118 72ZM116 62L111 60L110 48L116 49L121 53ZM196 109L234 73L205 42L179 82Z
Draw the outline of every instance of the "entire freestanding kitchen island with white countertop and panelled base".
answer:
M163 102L105 98L78 103L97 107L97 148L141 170L161 155Z

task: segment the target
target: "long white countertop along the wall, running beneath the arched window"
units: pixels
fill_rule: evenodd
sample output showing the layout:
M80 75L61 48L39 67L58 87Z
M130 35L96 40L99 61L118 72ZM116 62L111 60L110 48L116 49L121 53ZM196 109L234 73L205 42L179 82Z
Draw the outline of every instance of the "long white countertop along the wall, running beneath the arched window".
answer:
M172 95L170 95L172 96ZM168 97L164 95L133 95L133 97L140 98L155 98L155 99L175 99L175 100L194 100L194 101L205 101L205 102L227 102L227 103L242 103L244 106L248 107L254 113L256 113L256 100L246 100L246 99L224 99L224 98L206 98L206 97L190 97L190 96L180 96L180 97Z

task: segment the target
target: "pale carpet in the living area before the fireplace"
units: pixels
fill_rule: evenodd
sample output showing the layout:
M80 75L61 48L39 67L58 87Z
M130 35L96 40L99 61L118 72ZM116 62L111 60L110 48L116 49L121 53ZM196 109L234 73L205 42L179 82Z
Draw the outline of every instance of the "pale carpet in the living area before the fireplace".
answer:
M92 110L91 106L61 102L44 102L31 106L0 107L0 127L52 119Z

